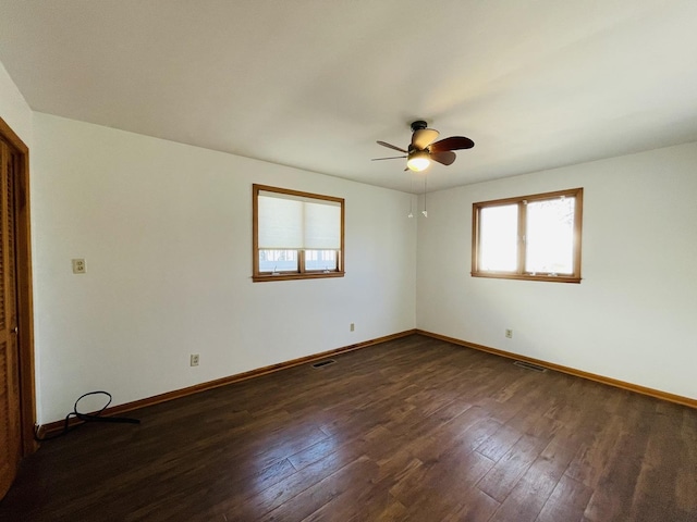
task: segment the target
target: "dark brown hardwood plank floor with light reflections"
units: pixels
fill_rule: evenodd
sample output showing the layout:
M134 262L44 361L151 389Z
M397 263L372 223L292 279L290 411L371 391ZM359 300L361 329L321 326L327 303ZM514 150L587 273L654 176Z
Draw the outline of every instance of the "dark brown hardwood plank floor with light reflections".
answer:
M697 410L417 335L334 360L44 443L0 520L697 521Z

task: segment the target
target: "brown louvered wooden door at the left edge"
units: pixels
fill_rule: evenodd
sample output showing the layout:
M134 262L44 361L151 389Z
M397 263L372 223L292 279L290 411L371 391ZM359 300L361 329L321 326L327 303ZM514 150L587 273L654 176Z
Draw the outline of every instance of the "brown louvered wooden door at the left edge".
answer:
M16 474L22 457L17 287L15 167L12 149L0 140L0 498Z

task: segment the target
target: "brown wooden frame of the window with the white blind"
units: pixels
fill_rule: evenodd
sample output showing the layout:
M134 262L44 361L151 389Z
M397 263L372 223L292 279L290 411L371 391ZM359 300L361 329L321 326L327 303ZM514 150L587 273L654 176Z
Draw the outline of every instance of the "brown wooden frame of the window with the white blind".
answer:
M305 270L305 250L304 249L286 249L295 250L297 252L297 271L281 271L276 274L259 271L259 212L258 212L258 198L259 191L276 192L281 195L318 199L321 201L332 201L340 203L341 207L341 247L337 251L337 268L331 271L327 270ZM271 187L269 185L252 185L252 256L253 256L253 274L252 281L255 283L267 281L292 281L292 279L317 279L325 277L343 277L344 271L344 199L333 196L325 196L320 194L305 192L301 190L292 190L289 188Z

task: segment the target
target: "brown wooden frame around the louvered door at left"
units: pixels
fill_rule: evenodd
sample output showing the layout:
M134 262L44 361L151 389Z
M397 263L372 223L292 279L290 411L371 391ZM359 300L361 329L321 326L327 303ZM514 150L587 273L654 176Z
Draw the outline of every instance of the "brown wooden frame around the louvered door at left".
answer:
M29 214L29 148L0 117L0 137L16 154L16 285L17 285L17 355L20 368L20 413L22 418L22 455L38 448L36 426L36 389L34 377L34 306L32 290L32 235Z

